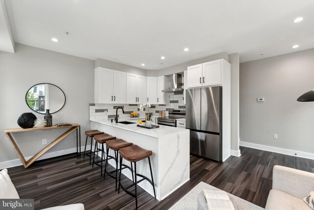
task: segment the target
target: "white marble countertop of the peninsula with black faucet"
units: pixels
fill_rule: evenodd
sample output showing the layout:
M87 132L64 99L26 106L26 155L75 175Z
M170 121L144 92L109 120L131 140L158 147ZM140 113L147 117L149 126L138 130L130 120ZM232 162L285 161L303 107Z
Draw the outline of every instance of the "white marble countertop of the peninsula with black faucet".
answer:
M165 125L159 125L159 128L154 128L154 129L146 129L146 128L141 128L141 127L137 127L138 124L138 120L143 120L141 118L126 118L126 119L119 119L119 121L131 121L131 122L136 122L134 124L122 124L122 123L115 123L114 121L111 122L110 119L100 119L100 120L90 120L93 122L98 122L101 124L105 124L105 125L109 125L109 126L113 126L113 127L117 127L117 128L121 128L123 130L128 130L128 131L132 131L135 133L139 133L139 134L143 134L146 136L151 136L151 137L155 137L155 138L161 138L165 135L168 134L173 134L176 132L181 132L181 131L185 131L186 129L184 128L179 128L179 127L171 127L171 126L165 126Z

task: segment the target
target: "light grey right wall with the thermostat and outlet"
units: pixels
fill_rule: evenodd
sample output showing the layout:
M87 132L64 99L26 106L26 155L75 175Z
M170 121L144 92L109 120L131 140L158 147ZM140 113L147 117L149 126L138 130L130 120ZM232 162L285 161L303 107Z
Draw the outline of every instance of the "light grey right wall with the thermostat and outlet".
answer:
M240 63L241 142L314 153L314 102L296 101L313 89L314 49Z

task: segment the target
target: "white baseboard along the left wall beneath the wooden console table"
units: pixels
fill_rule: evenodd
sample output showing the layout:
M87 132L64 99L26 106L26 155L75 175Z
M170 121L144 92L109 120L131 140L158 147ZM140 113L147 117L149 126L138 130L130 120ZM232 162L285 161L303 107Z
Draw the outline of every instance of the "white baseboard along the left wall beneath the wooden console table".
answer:
M84 151L84 147L81 146L80 150ZM47 152L47 153L43 154L43 156L38 158L38 160L48 159L51 157L57 157L57 156L65 155L65 154L71 154L71 153L74 153L76 151L77 151L77 148L71 148L71 149L67 149L67 150ZM31 157L32 156L25 157L25 159L28 160ZM0 170L5 169L5 168L11 168L14 166L20 166L20 165L23 165L23 163L21 162L20 159L8 160L8 161L0 162Z

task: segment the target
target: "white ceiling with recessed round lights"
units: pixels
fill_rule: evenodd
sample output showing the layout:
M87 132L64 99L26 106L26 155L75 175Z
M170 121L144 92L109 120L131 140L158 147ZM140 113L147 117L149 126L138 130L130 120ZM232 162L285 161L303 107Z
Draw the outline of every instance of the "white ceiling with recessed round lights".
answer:
M221 52L237 52L244 62L314 48L314 0L7 0L6 4L18 43L145 69ZM304 20L292 23L299 16ZM60 41L54 43L52 37ZM300 47L291 49L294 44ZM185 47L190 50L184 52Z

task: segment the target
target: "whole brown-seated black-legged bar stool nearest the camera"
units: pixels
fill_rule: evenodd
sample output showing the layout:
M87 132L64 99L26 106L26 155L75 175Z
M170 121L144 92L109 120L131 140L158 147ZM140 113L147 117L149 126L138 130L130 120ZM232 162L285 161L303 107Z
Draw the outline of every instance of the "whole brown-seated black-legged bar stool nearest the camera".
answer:
M119 174L119 188L118 188L118 193L120 193L120 186L121 188L128 193L129 195L133 196L135 198L135 207L137 209L137 184L143 180L147 180L149 183L151 183L153 185L153 189L154 189L154 196L156 199L156 192L155 192L155 185L154 185L154 178L153 178L153 172L152 172L152 166L151 166L151 160L150 160L150 156L153 154L153 152L151 150L144 150L140 147L138 147L137 145L133 145L131 147L126 147L126 148L122 148L120 151L120 174ZM136 162L145 158L148 158L148 162L149 162L149 169L151 171L151 177L152 177L152 181L149 180L147 177L141 175L141 174L137 174L136 172ZM134 183L132 183L131 185L124 187L121 184L121 167L122 167L122 158L129 160L131 162L134 163ZM143 179L138 180L137 181L137 176L142 177ZM132 187L135 185L135 194L132 193L131 191L128 190L128 188Z

